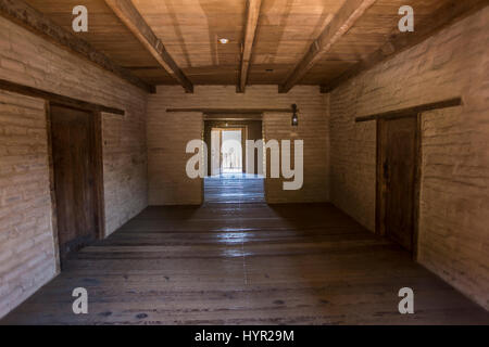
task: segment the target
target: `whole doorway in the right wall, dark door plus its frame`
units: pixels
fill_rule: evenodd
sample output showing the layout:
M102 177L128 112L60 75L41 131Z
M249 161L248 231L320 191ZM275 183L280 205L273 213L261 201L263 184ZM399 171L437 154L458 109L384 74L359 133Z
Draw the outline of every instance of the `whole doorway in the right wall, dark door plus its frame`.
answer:
M377 120L377 232L416 256L419 115Z

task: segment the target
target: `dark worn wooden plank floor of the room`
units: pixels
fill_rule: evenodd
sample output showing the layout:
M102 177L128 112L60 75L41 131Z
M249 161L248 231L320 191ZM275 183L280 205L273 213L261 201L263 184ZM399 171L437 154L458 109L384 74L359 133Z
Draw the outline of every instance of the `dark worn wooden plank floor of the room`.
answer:
M1 323L489 324L488 312L333 205L217 197L147 208L73 255ZM404 286L415 314L398 311ZM88 314L72 312L75 287L88 290Z

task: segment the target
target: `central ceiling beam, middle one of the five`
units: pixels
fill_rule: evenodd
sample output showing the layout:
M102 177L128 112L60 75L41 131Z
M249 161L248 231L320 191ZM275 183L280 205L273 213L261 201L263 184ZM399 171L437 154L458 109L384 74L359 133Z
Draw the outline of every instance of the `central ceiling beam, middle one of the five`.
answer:
M242 43L241 68L239 72L238 92L243 93L251 62L251 54L253 52L253 43L256 34L258 20L260 17L260 8L262 0L247 1L247 23L244 27L244 41Z

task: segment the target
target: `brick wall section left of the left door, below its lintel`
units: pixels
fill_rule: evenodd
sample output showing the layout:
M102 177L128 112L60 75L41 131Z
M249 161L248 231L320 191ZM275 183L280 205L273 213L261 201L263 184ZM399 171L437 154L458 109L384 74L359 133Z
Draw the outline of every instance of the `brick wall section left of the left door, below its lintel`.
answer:
M45 102L0 91L0 318L57 272Z

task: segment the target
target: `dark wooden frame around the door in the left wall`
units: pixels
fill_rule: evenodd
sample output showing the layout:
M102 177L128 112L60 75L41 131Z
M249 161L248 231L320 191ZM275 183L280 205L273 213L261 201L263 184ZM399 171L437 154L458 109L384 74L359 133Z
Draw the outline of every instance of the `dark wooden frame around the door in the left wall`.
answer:
M102 114L101 112L87 110L84 107L74 107L70 104L63 104L59 102L46 101L46 129L48 134L48 166L49 166L49 190L51 195L51 224L54 240L54 256L57 259L57 272L61 272L61 259L60 259L60 243L59 243L59 230L58 230L58 208L57 208L57 195L55 195L55 181L54 181L54 163L52 151L52 113L51 105L57 105L65 108L82 111L90 116L92 131L92 155L93 155L93 185L95 185L95 211L96 211L96 237L97 240L103 240L105 237L105 201L104 201L104 188L103 188L103 144L102 144Z

